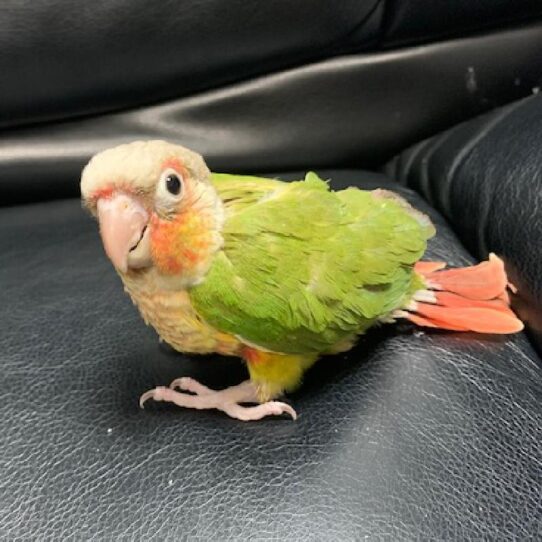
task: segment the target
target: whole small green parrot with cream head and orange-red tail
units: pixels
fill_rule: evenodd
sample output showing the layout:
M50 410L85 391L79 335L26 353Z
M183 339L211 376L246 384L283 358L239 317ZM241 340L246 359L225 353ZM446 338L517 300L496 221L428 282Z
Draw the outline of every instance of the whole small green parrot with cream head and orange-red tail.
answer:
M80 188L145 323L179 352L237 356L248 369L223 390L181 376L145 392L142 407L295 420L282 396L373 326L523 329L502 259L422 261L435 228L388 190L333 191L314 172L288 182L211 173L198 153L162 140L98 152Z

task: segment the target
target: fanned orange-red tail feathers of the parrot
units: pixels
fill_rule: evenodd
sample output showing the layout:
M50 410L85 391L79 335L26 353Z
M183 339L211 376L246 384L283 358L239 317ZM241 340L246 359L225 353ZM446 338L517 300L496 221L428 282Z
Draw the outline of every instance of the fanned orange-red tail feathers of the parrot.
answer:
M441 271L440 262L418 262L414 269L429 291L418 292L398 316L413 323L455 331L516 333L523 323L509 306L508 279L503 261L489 260L472 267Z

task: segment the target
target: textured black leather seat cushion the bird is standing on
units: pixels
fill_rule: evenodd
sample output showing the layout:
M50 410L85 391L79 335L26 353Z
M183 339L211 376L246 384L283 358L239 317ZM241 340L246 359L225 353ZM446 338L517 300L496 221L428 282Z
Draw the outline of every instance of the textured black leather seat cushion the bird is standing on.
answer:
M435 220L429 258L472 261L414 192L361 171L321 174L401 191ZM310 372L289 399L295 423L141 411L155 384L188 374L219 387L243 370L159 346L78 200L4 208L0 231L0 538L540 534L542 368L524 334L382 327Z

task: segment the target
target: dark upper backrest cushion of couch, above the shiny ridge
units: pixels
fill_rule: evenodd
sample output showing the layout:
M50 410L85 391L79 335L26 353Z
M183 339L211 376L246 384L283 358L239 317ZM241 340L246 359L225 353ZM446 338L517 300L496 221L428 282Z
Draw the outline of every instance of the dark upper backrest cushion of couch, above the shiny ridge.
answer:
M535 0L3 0L0 127L126 109L541 16Z

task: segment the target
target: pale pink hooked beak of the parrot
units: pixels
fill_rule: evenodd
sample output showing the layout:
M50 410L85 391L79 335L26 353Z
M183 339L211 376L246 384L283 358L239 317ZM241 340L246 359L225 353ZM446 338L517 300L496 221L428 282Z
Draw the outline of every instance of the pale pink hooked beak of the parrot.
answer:
M136 198L121 193L100 198L97 209L105 252L113 265L126 273L130 252L145 236L149 214Z

